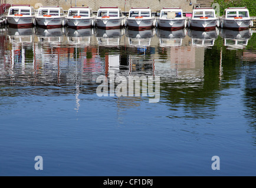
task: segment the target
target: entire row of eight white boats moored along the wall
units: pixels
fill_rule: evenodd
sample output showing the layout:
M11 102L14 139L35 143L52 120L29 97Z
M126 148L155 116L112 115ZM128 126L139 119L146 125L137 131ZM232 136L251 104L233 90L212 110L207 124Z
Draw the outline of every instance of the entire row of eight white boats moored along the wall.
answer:
M100 29L117 29L129 27L134 30L145 30L157 27L160 29L182 29L185 27L211 30L216 26L227 29L248 29L252 25L249 11L245 7L227 8L225 14L217 17L213 8L194 8L192 15L184 16L181 8L163 8L159 17L153 16L149 7L131 8L124 16L118 7L100 7L97 15L89 7L71 7L67 15L60 6L41 6L35 10L30 5L12 5L6 21L10 26L24 28L38 25L42 28L58 28L67 25L74 29L86 29L97 26Z

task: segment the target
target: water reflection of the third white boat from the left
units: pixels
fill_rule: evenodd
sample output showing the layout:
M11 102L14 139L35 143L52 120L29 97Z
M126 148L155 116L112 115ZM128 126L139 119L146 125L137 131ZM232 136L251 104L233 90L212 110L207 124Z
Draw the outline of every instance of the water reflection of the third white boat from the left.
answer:
M93 29L66 28L67 43L70 45L90 45Z

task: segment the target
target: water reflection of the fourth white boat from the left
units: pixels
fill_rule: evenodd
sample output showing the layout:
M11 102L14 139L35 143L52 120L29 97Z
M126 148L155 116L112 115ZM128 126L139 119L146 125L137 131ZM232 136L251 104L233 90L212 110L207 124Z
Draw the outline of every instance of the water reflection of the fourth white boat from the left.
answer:
M123 29L96 29L95 36L99 45L118 46L123 36Z

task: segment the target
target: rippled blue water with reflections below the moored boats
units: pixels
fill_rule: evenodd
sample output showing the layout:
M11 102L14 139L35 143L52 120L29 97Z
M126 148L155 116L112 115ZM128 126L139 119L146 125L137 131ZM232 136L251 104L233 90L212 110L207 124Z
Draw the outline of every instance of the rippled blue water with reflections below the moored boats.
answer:
M1 29L0 175L255 176L254 32ZM110 72L160 101L97 96Z

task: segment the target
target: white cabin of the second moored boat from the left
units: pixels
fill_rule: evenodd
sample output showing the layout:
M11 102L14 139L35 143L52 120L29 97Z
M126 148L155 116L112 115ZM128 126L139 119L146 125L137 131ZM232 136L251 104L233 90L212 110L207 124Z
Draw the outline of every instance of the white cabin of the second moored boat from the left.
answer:
M64 16L63 8L59 6L41 6L38 16Z

